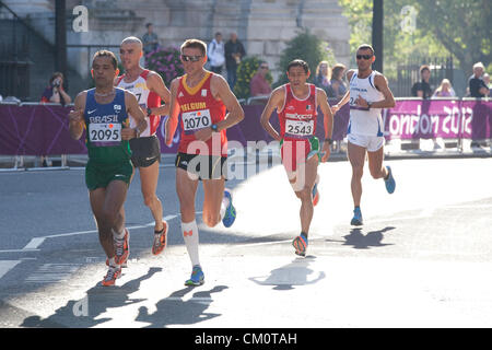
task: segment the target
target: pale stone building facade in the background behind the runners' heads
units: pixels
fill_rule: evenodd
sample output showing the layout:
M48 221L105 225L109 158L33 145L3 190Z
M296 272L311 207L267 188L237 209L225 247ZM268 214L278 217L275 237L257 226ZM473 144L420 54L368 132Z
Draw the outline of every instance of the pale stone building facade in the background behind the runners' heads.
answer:
M55 43L55 0L4 2L20 16L28 15L32 25ZM75 33L72 10L80 4L89 10L87 32ZM263 58L271 68L277 67L285 43L308 27L329 44L337 61L349 63L350 27L338 0L67 0L66 7L68 62L82 78L96 49L118 45L129 35L141 37L148 22L164 46L179 46L190 37L209 43L215 32L229 39L235 32L247 55ZM279 72L272 73L276 78Z

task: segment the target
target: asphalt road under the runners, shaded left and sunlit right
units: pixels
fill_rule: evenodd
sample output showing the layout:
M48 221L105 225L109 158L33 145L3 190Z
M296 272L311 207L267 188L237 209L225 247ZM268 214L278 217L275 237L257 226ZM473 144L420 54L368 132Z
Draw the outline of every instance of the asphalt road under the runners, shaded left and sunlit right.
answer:
M138 177L126 202L129 267L106 272L83 171L0 173L0 327L491 327L492 159L388 161L397 189L366 168L364 226L350 226L350 165L321 164L308 255L291 246L298 203L273 166L233 189L237 220L199 218L206 283L186 288L174 168L159 196L169 245L150 253ZM201 210L202 191L197 210Z

